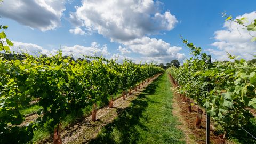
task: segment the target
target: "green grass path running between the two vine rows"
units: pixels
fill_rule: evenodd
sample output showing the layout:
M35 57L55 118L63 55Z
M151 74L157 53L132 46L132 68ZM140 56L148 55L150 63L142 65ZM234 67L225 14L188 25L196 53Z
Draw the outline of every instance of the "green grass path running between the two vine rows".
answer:
M185 143L172 115L172 92L164 73L90 143Z

